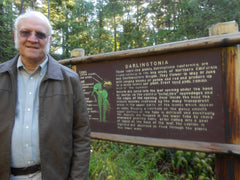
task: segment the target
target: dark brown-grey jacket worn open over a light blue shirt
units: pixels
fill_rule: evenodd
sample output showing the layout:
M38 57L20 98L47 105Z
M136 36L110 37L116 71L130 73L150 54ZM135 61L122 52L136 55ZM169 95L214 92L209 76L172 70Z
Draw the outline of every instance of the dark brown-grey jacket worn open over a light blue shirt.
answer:
M0 180L10 177L17 59L0 64ZM50 56L39 90L39 144L43 180L87 179L90 128L80 80Z

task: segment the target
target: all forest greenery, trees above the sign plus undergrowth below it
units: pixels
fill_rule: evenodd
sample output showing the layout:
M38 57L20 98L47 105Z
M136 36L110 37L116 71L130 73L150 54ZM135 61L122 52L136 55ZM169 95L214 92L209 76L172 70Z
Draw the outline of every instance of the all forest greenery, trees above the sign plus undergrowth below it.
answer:
M49 17L57 60L75 48L87 56L121 51L205 37L216 23L240 23L239 0L0 0L0 62L17 53L13 23L27 7ZM212 154L96 140L91 152L90 179L215 177Z

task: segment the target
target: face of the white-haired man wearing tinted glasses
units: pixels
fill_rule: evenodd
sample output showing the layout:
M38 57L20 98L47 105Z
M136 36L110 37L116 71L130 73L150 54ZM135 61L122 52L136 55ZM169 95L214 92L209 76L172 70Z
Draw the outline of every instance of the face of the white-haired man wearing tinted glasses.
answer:
M24 18L19 22L15 36L23 61L43 61L46 58L51 37L43 20L37 17Z

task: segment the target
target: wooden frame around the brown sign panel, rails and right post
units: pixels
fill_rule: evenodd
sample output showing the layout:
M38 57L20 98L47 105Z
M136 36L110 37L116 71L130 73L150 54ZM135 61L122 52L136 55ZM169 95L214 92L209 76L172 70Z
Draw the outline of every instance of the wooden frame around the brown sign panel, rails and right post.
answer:
M217 179L222 177L239 177L236 172L240 170L240 56L238 44L240 33L231 33L218 36L204 37L194 40L167 43L152 47L133 50L105 53L86 57L77 57L61 60L61 64L71 65L77 71L77 66L85 64L112 62L126 58L139 58L162 54L178 53L203 49L221 49L221 82L223 101L224 142L205 142L169 138L152 138L144 136L131 136L124 134L92 132L95 139L142 144L148 146L166 147L183 150L203 151L216 153ZM217 126L217 125L216 125ZM232 158L233 157L233 158ZM234 170L223 168L231 164Z

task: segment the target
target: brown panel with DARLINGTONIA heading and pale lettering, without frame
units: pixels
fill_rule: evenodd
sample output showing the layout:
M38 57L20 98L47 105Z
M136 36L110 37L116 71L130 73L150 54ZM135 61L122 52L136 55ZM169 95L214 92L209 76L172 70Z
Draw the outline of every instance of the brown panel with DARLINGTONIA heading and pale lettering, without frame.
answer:
M93 132L225 142L221 48L77 65Z

